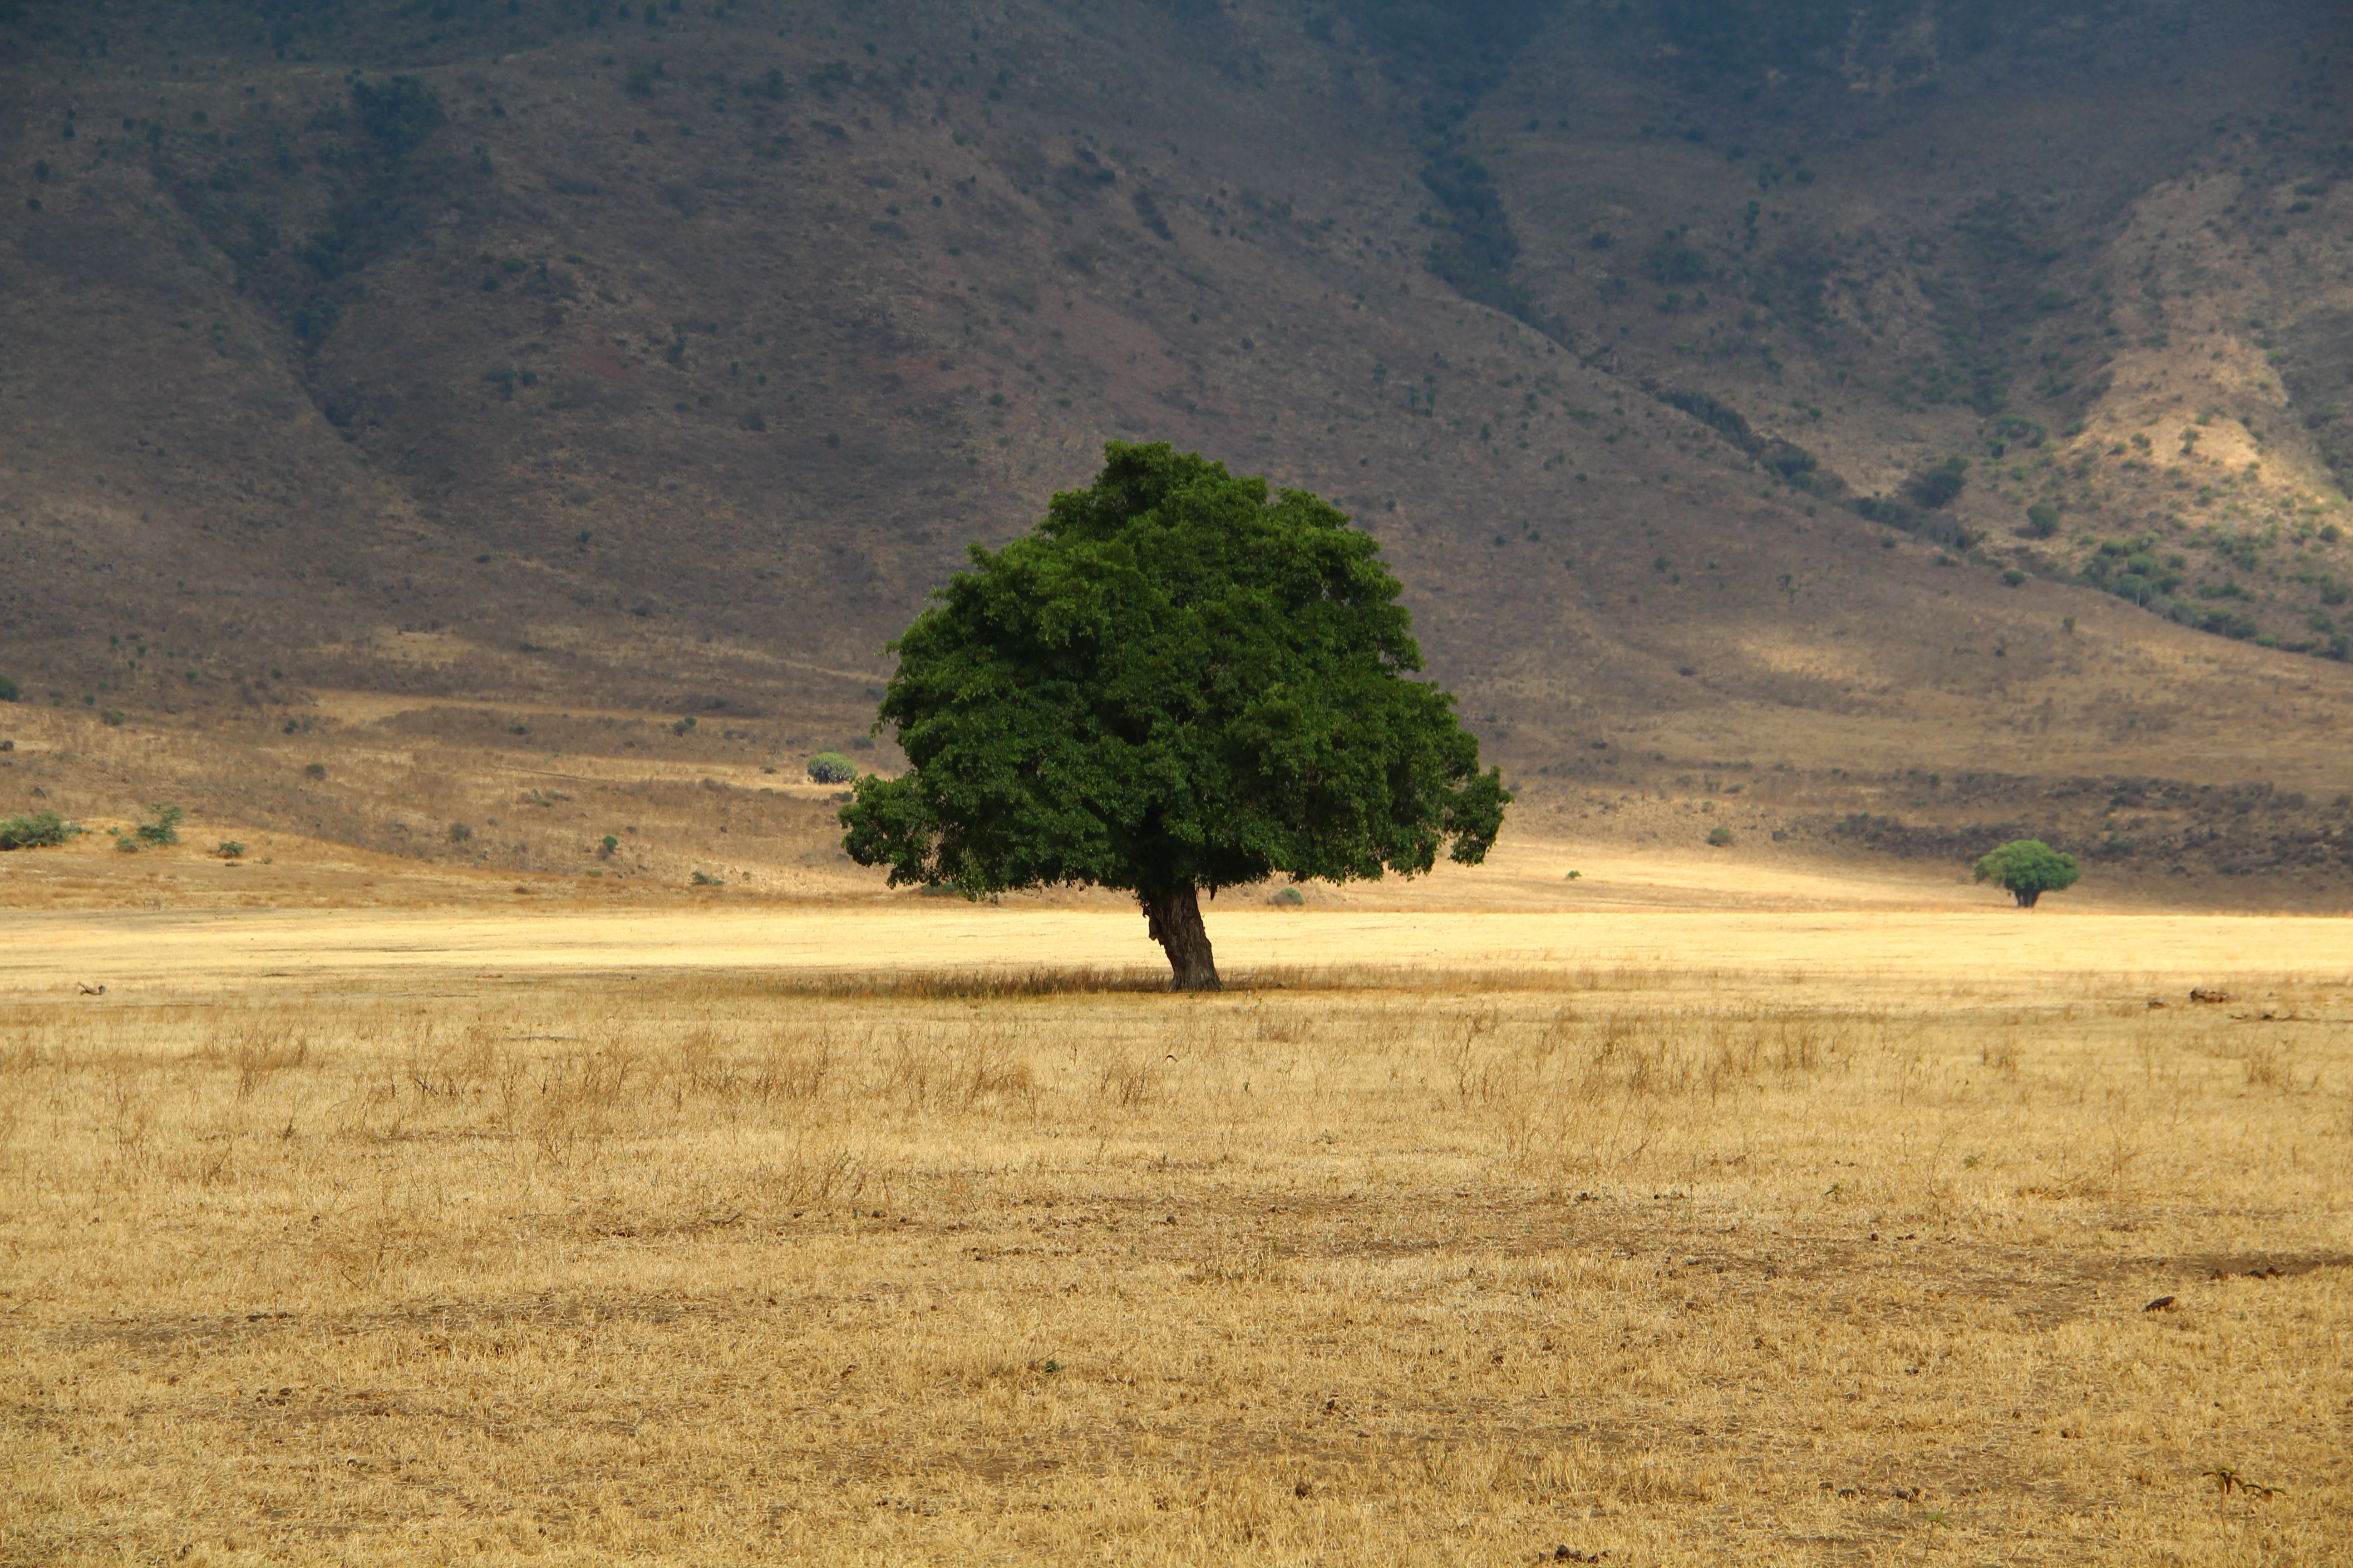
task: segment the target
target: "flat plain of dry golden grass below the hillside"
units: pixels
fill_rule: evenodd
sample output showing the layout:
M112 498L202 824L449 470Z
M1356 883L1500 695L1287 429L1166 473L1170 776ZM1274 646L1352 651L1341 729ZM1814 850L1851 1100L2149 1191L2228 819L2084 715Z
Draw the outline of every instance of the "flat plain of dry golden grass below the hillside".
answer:
M0 1561L2344 1561L2341 922L993 917L9 917Z

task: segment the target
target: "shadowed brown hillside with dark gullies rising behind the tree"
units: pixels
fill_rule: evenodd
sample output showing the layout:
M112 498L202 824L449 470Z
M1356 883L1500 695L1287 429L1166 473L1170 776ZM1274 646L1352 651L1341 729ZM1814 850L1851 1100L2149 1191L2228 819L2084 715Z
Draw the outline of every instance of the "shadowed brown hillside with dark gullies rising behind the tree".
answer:
M2341 898L2344 31L0 7L0 811L781 886L701 780L1155 437L1384 541L1525 832Z

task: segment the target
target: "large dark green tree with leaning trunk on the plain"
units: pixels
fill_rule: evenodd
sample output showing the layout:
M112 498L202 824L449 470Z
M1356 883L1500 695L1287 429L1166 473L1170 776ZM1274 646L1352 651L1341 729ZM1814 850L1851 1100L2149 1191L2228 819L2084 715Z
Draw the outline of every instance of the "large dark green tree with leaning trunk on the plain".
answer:
M892 886L1136 896L1174 990L1217 990L1200 891L1487 856L1501 771L1421 670L1379 543L1325 501L1165 442L960 571L892 644L842 849Z

